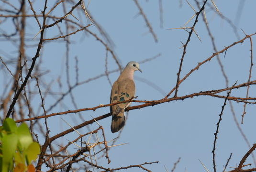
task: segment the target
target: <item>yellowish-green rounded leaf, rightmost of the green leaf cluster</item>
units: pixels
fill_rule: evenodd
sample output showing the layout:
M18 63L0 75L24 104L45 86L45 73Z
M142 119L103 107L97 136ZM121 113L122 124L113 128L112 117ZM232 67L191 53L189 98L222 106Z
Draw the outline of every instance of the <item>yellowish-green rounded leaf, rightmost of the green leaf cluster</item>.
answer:
M40 154L40 146L37 142L33 142L29 145L29 147L24 151L26 158L29 163L31 161L36 160L38 155Z

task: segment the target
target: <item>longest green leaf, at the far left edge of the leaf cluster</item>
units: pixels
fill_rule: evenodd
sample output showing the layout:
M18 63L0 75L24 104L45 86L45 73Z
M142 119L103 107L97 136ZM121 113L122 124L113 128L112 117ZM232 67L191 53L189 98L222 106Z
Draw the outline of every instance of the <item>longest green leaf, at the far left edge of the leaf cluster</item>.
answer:
M18 137L16 134L9 134L2 138L2 172L8 172L12 167L12 159L17 143Z

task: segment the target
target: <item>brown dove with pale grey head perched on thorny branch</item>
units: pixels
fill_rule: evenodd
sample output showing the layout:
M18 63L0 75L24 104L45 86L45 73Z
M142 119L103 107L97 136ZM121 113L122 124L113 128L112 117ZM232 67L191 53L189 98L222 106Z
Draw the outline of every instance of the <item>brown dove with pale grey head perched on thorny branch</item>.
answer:
M111 89L110 103L129 100L135 95L134 72L140 71L138 62L129 62L123 69L118 79L114 82ZM125 123L125 108L129 107L131 102L121 103L110 106L110 113L112 116L111 132L118 132Z

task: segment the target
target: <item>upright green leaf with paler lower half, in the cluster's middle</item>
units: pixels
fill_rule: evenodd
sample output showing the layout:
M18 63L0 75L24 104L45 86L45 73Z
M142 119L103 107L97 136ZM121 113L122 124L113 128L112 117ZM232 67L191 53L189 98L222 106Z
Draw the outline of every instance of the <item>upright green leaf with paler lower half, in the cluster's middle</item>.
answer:
M17 135L19 139L19 149L26 150L28 146L33 142L32 136L29 132L27 124L22 123L17 129Z

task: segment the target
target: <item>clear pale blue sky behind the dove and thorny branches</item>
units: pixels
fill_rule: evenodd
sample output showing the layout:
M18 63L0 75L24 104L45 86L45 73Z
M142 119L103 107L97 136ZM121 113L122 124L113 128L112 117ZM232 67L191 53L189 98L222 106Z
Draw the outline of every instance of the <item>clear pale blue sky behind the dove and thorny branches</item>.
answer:
M182 2L182 5L180 4ZM206 5L206 16L209 22L212 35L215 38L217 50L222 50L239 39L245 37L242 32L243 29L246 34L256 32L256 22L254 16L256 1L244 1L243 8L240 7L240 0L215 0L214 1L221 11L223 16L232 21L239 34L238 38L234 33L231 25L222 19L212 7L211 1L208 0ZM52 7L53 2L49 1L49 9ZM141 15L138 15L138 8L134 1L120 1L120 0L91 0L88 6L91 16L97 21L100 26L107 32L113 44L109 45L118 57L119 62L124 67L130 61L143 61L145 59L154 57L161 54L158 58L140 64L143 73L135 72L136 83L136 96L137 100L158 100L163 98L162 92L166 94L176 85L177 73L180 58L183 49L180 48L182 43L185 43L188 38L188 32L179 30L167 30L169 28L177 28L183 26L193 15L194 11L189 7L185 0L162 0L163 4L163 28L160 27L159 17L159 2L155 1L139 1L142 6L146 17L153 27L154 32L158 38L156 43L153 36L148 32L145 21ZM199 11L194 0L189 0L189 3ZM43 5L40 1L34 2L34 9L37 13L43 10ZM72 6L67 4L68 6ZM202 5L202 3L200 3ZM56 9L52 15L63 16L61 11L62 6ZM29 11L29 13L32 13ZM239 18L236 15L240 16ZM75 11L74 15L79 18L83 26L90 23L81 13ZM70 15L68 19L74 20ZM239 19L239 20L238 20ZM40 19L41 21L41 19ZM48 21L52 23L53 21ZM27 21L29 27L26 30L28 38L33 36L39 31L34 18ZM191 27L194 23L192 19L186 27ZM10 27L10 23L0 25L3 30L5 27ZM64 22L59 26L65 31ZM10 32L11 32L10 27ZM71 30L73 32L79 28ZM90 31L95 32L102 40L106 40L100 35L99 31L94 25L89 26ZM214 52L211 44L211 39L206 30L205 24L200 15L198 23L195 27L200 40L193 33L187 47L186 55L183 62L181 71L181 78L183 78L192 68L199 62L207 59ZM51 38L58 35L57 27L48 28L46 30L45 38ZM33 42L27 44L37 43L37 36ZM71 85L76 82L76 60L78 58L78 73L79 82L92 78L94 76L104 74L105 72L105 58L106 48L95 38L86 34L86 32L78 32L69 37L70 39L70 52L69 52L69 72ZM253 42L255 36L252 37ZM255 47L255 43L253 44ZM1 42L0 55L4 59L8 59L9 54L16 57L17 51L13 52L11 48L13 44ZM253 49L255 49L253 47ZM226 55L220 54L220 59L223 63L224 70L229 79L229 86L232 86L236 81L237 84L247 82L250 67L250 42L246 39L243 44L239 43L230 48ZM36 49L34 47L26 49L28 58L32 58ZM3 53L5 52L5 54ZM42 52L40 53L41 71L49 71L47 75L42 77L41 84L52 83L53 91L66 92L67 91L67 77L66 77L66 45L63 40L52 41L45 43ZM108 70L117 69L118 66L113 60L110 53L108 53ZM14 68L13 68L14 70ZM1 74L4 77L6 74ZM119 73L110 74L111 83L113 83ZM59 86L57 79L60 78L62 87ZM163 91L159 92L154 87L146 84L139 78L146 79ZM255 69L252 70L251 80L255 80ZM4 81L4 79L1 79ZM31 83L33 85L33 82ZM0 85L0 88L4 84ZM198 71L195 71L189 76L180 86L178 96L185 96L187 94L196 93L200 91L221 89L225 88L226 83L222 75L220 66L214 57L210 62L202 65ZM33 88L36 90L36 88ZM45 88L43 88L45 89ZM99 104L108 104L111 92L111 85L107 77L100 77L87 84L77 86L73 91L75 101L78 108L95 107ZM255 97L255 86L250 87L249 96ZM226 96L226 92L220 95ZM231 93L234 97L245 97L246 88L239 88L232 90ZM174 96L173 94L171 97ZM56 95L59 97L59 95ZM45 107L49 108L56 101L55 97L45 97ZM129 112L126 125L122 131L120 139L116 144L129 143L122 146L114 147L109 151L111 163L107 165L109 168L118 168L121 166L129 166L133 164L141 164L151 161L159 161L158 164L146 165L145 167L154 171L165 171L165 167L170 172L174 162L181 157L177 165L176 171L178 172L192 172L192 171L205 171L200 161L210 170L212 169L212 153L214 132L216 130L216 123L219 119L219 114L222 110L224 99L200 96L193 97L185 100L171 101L163 103L154 107L145 107L141 109L131 110ZM37 107L40 104L40 99L35 97L33 105ZM131 106L139 103L132 103ZM242 103L234 103L235 116L239 123L243 113ZM251 145L256 143L255 137L255 109L256 107L251 104L246 107L246 115L244 124L241 126L246 137ZM40 108L39 108L40 109ZM48 111L47 114L53 112L66 111L68 109L76 109L70 96L65 97L61 103ZM85 120L90 120L92 117L98 117L109 112L109 108L100 108L96 111L84 111L80 114ZM39 115L43 114L40 109ZM50 135L54 136L56 133L64 129L68 129L67 124L61 119L65 119L71 125L75 126L82 123L78 114L67 114L64 116L57 116L48 118ZM43 120L40 120L42 123ZM117 137L118 133L112 134L110 130L111 118L105 118L99 121L106 132L107 140L112 140ZM97 124L90 126L91 129L96 129ZM86 127L79 129L80 132L86 133ZM76 138L76 133L67 135L67 138L62 138L54 144L63 143L67 144L67 140ZM43 144L43 140L40 144ZM223 112L223 120L220 124L218 133L218 140L216 145L216 165L217 170L222 171L223 165L226 160L233 153L229 166L235 167L248 150L242 135L240 134L237 126L235 125L233 115L231 113L230 105L227 104ZM70 149L70 152L76 150ZM200 160L200 161L199 161ZM252 168L255 164L252 158L249 157L246 163L252 163ZM106 166L107 160L100 159L100 165ZM164 167L165 166L165 167ZM227 171L232 170L228 168ZM129 170L130 172L137 172L137 168Z

